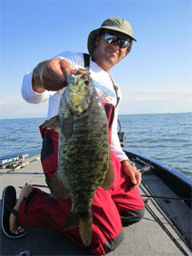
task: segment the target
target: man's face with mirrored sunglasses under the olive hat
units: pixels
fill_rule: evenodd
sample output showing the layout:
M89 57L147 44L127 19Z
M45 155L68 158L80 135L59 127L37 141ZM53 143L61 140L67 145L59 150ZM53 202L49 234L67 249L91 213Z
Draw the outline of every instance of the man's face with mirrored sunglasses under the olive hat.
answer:
M96 63L102 67L105 71L109 71L115 64L121 61L126 53L127 47L120 48L118 42L112 42L111 44L104 37L104 33L114 35L120 39L129 39L125 34L120 32L114 32L110 30L104 30L101 35L96 38L96 49L94 51L94 57Z

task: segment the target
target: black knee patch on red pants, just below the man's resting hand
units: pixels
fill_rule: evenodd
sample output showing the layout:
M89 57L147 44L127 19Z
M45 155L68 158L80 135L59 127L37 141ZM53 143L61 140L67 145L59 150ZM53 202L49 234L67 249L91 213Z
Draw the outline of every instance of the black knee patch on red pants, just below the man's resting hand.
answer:
M144 216L145 208L126 210L120 213L123 226L128 226L140 221Z

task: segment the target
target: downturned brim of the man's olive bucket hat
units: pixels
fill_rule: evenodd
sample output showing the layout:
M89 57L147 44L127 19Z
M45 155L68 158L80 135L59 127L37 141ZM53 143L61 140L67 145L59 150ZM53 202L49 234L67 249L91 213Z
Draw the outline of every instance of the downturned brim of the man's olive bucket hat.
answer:
M108 29L108 30L112 30L112 31L116 31L116 32L121 32L122 34L125 34L126 36L130 37L132 40L137 42L136 38L133 38L130 34L125 33L124 31L122 31L121 29L119 29L118 27L112 27L112 26L101 26L93 31L90 32L88 40L87 40L87 48L88 51L90 53L90 55L92 55L94 49L95 49L95 41L96 41L96 37L98 36L98 34L101 32L102 29Z

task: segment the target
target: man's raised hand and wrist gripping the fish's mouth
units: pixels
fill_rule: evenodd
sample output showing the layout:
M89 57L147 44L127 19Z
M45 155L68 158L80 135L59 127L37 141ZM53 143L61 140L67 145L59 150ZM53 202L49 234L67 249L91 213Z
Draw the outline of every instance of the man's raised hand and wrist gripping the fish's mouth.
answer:
M44 90L60 90L67 85L64 73L73 73L66 60L43 61L35 67L32 75L32 89L38 93Z

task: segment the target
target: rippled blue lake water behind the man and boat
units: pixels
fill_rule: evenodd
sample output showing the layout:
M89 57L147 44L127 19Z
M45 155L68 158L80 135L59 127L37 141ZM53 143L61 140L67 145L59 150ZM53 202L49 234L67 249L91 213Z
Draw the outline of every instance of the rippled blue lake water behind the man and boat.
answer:
M0 158L39 154L38 126L45 119L1 119ZM125 148L162 161L192 177L192 113L119 115Z

